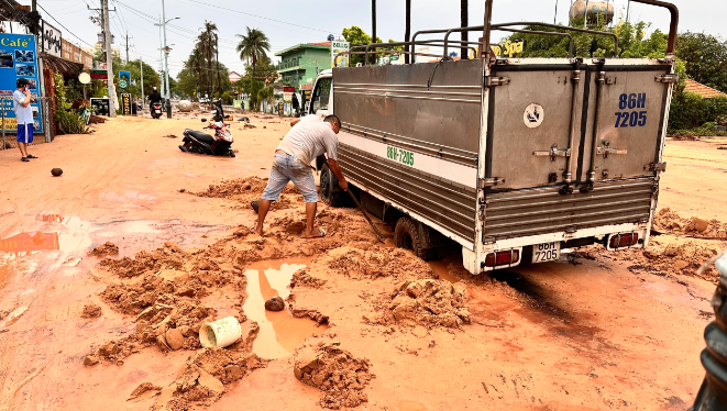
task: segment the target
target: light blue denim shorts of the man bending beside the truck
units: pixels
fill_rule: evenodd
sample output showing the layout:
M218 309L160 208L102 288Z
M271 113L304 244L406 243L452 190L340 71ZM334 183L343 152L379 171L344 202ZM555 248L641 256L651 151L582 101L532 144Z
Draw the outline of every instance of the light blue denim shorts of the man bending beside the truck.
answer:
M295 156L275 153L275 162L271 169L271 178L267 180L267 187L265 187L265 191L263 192L263 200L277 201L288 181L293 181L296 185L302 195L304 201L318 202L316 179L313 179L313 173L310 166L300 163Z

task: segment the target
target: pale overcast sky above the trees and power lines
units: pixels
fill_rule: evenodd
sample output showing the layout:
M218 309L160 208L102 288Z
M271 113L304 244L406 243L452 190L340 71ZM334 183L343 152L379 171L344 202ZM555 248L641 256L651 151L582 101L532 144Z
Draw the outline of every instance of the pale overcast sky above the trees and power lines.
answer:
M159 29L162 0L109 0L111 8L111 32L115 36L114 47L125 58L125 40L129 34L130 59L141 57L155 68L159 67ZM572 0L495 0L493 22L542 21L559 23L568 21ZM30 4L31 0L19 0ZM610 0L616 15L626 14L627 0ZM99 8L99 0L37 0L37 3L67 30L55 24L43 10L41 14L51 24L63 31L63 37L74 44L87 46L97 41L100 27L89 15L90 8ZM555 4L558 13L555 14ZM673 0L680 9L680 32L706 32L724 36L724 16L727 1L723 0ZM484 21L484 0L470 0L470 24ZM244 63L240 60L235 45L236 34L245 27L263 31L271 41L272 54L299 43L324 42L329 34L341 36L343 27L357 25L371 34L371 1L366 0L164 0L166 18L179 18L167 25L169 73L176 76L194 46L194 37L205 21L217 24L220 36L220 63L240 74ZM460 1L411 0L411 33L418 30L448 29L460 25ZM405 2L378 1L377 36L401 41L404 38ZM669 11L631 2L631 21L652 22L651 29L669 31ZM70 30L70 32L68 32ZM76 37L77 36L77 37ZM498 38L500 34L494 34ZM80 40L78 38L80 37ZM474 34L470 34L473 38Z

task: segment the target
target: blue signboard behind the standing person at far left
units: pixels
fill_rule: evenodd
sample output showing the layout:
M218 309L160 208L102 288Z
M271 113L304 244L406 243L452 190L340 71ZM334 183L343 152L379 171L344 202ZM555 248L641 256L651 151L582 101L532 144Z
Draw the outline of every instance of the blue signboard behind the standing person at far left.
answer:
M18 89L16 81L21 77L30 81L33 129L36 132L43 132L38 100L41 90L38 71L35 36L0 33L0 98L2 98L2 109L5 112L4 129L7 132L14 133L18 131L12 92Z

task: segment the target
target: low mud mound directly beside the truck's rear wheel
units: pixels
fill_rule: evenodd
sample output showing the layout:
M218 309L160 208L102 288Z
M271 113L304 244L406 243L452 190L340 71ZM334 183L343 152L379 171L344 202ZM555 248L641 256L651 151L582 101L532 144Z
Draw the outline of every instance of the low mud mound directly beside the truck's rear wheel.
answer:
M357 242L333 257L328 268L353 279L394 277L397 280L434 278L434 271L412 253L401 248Z

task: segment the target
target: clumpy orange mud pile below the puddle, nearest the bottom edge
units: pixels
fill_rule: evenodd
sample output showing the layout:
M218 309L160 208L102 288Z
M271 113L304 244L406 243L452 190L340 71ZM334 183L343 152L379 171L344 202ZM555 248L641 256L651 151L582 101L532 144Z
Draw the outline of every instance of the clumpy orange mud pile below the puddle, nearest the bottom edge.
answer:
M323 391L320 407L338 410L368 401L364 388L375 376L368 359L355 358L337 342L318 342L295 354L294 374L302 382Z

